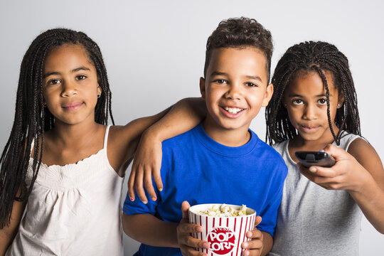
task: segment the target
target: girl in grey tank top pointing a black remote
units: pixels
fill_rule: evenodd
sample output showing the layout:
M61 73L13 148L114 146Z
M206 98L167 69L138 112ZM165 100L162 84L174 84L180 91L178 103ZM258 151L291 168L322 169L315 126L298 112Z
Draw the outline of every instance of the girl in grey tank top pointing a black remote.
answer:
M361 138L348 59L329 43L299 43L277 63L272 84L267 142L288 176L270 255L358 255L362 213L384 233L384 170ZM321 149L336 156L334 167L297 164L295 151Z

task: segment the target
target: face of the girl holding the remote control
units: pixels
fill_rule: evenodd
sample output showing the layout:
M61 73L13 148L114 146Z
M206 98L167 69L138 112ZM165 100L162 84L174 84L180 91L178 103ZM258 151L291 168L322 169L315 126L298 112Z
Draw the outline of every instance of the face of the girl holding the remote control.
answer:
M324 72L329 88L329 112L335 134L336 110L343 105L343 95L339 95L331 73ZM287 107L289 121L297 129L299 137L306 142L331 143L334 137L329 128L326 90L319 73L299 71L284 92L284 106Z

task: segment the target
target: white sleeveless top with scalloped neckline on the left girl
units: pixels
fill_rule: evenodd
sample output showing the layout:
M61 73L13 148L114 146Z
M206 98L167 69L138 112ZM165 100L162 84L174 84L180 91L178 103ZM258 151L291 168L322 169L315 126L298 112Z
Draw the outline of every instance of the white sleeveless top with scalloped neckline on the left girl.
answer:
M41 164L26 213L6 255L123 255L121 196L124 178L104 146L77 164ZM33 159L26 185L31 184Z

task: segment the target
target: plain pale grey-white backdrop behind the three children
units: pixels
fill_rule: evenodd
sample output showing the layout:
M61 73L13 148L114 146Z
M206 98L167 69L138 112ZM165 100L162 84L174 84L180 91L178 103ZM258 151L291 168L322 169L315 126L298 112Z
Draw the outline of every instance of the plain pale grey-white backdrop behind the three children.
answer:
M110 78L114 119L126 124L160 112L183 97L198 97L208 36L219 21L247 16L272 32L272 70L284 51L301 41L328 41L346 54L363 136L383 159L383 11L381 0L0 0L1 150L14 120L21 60L42 31L72 28L98 43ZM251 128L265 138L264 110ZM124 186L122 200L126 191ZM384 235L365 219L361 230L361 255L382 255ZM138 243L124 235L124 247L125 255L132 255Z

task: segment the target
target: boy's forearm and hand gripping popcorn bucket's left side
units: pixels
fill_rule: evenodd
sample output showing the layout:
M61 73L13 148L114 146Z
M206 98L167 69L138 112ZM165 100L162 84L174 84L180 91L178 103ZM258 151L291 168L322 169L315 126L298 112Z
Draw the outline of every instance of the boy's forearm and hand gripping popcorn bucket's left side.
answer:
M200 233L201 226L188 223L189 203L183 202L180 223L168 223L151 214L122 215L124 233L146 245L177 247L183 255L203 255L193 247L209 247L206 241L192 238L190 233Z

